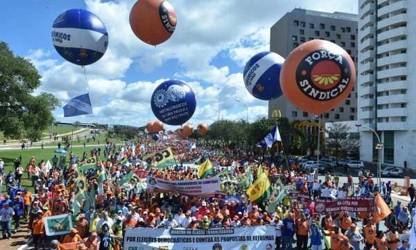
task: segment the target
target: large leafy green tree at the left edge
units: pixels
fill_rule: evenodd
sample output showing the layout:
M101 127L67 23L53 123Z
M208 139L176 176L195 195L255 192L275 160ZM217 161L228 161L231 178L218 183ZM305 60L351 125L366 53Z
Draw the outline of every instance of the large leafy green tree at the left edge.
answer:
M32 63L0 42L0 131L6 137L37 141L53 122L51 111L60 102L46 92L33 95L40 78Z

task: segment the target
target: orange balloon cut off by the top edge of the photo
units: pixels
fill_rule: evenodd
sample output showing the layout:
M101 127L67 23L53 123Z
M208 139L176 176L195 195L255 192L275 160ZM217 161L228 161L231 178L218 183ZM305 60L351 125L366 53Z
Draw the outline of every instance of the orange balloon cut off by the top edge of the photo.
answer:
M168 40L176 27L176 12L168 1L139 0L130 10L133 33L147 44Z

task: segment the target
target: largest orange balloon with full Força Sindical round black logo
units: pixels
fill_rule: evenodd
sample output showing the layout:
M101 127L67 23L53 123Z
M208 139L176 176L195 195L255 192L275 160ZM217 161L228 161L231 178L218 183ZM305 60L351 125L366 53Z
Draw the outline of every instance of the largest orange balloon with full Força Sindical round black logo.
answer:
M354 61L343 48L325 40L301 44L289 54L280 72L286 99L314 115L340 105L355 81Z

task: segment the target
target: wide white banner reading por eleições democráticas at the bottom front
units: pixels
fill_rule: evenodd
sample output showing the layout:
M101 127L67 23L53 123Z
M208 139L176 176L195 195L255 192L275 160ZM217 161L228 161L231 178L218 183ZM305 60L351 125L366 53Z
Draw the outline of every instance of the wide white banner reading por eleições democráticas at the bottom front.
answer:
M275 249L275 227L245 228L128 228L124 249Z

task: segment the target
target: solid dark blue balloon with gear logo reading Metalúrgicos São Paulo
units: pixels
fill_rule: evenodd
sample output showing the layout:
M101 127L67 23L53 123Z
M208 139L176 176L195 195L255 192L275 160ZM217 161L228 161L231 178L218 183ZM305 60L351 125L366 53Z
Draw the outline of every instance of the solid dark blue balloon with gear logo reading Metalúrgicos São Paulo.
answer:
M195 112L195 94L186 83L168 80L157 86L152 94L150 106L160 122L173 126L182 125Z

